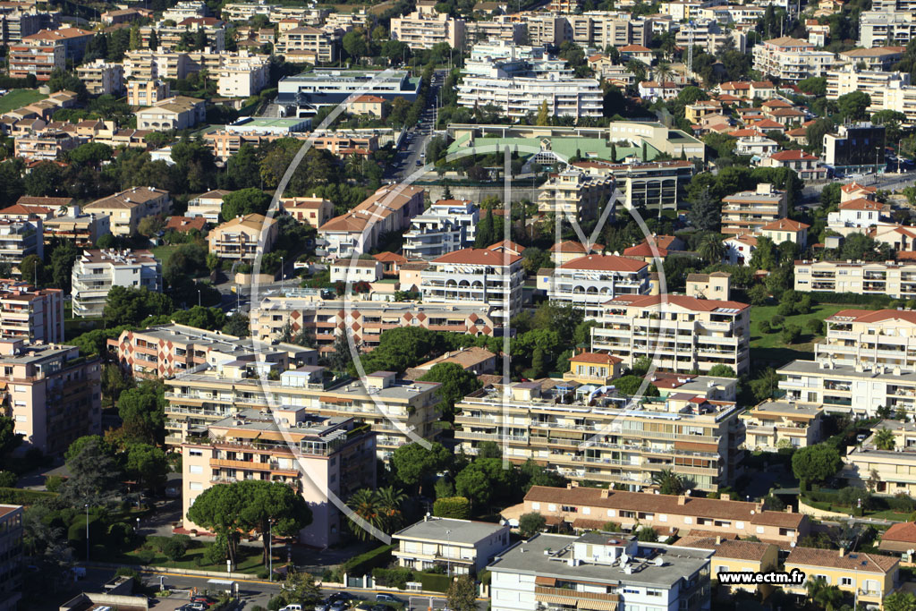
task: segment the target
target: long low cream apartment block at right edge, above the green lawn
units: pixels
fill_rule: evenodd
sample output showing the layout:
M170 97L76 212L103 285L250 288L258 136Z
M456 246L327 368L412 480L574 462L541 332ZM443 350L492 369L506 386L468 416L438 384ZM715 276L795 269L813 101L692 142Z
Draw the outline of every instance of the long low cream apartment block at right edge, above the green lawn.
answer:
M916 263L796 261L795 290L916 299Z

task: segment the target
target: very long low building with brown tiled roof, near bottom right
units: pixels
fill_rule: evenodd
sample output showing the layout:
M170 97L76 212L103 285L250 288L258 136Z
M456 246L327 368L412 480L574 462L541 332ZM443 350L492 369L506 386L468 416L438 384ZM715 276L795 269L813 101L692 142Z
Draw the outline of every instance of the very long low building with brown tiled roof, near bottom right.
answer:
M601 529L616 522L625 529L649 525L660 532L677 529L715 537L757 537L789 547L811 531L811 520L800 513L773 511L763 503L722 498L672 496L568 486L531 486L525 495L524 513L538 512L550 522L565 522L574 529Z

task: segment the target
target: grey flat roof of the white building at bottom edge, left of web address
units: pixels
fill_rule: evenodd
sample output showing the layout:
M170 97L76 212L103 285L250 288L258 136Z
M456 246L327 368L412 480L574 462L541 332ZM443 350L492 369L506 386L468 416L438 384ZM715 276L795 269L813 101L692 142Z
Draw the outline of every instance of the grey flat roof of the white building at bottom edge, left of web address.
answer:
M631 561L632 573L624 573L618 565L579 562L578 566L570 566L568 561L573 559L572 544L578 539L541 533L504 551L487 569L596 584L670 588L703 569L713 556L712 551L640 543L638 553ZM561 551L555 552L557 550ZM545 554L545 551L550 555ZM661 566L655 564L657 558L661 558Z

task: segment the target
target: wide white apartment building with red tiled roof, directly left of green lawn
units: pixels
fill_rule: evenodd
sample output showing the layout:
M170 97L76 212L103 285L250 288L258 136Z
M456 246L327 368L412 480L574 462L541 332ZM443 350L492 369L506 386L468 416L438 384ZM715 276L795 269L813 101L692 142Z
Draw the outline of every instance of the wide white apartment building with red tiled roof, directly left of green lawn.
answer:
M707 372L750 367L750 306L738 301L685 295L622 295L605 303L601 326L592 329L592 351L633 366L648 357L662 370Z

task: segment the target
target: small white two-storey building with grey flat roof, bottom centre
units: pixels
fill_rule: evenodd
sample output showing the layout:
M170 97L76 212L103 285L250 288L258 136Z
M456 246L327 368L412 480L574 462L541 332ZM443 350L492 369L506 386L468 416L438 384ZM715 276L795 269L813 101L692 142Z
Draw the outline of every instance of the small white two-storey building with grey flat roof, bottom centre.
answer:
M398 566L415 571L444 568L449 575L482 573L511 544L508 524L429 515L391 539L398 545L391 551Z

